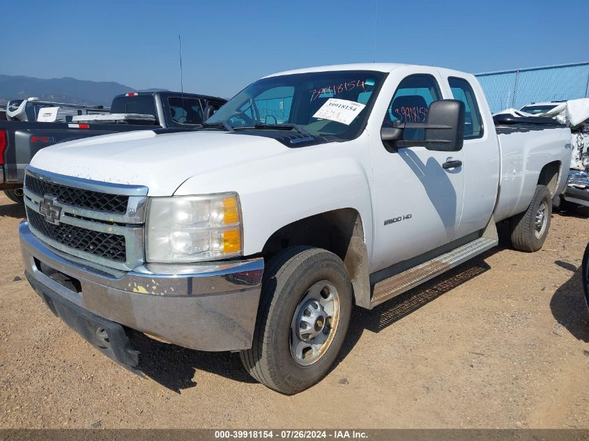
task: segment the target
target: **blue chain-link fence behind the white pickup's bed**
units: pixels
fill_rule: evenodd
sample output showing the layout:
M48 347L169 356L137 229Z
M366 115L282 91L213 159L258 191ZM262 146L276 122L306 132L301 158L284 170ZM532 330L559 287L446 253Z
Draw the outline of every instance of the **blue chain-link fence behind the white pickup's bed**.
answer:
M485 72L475 75L491 111L530 102L589 98L589 62Z

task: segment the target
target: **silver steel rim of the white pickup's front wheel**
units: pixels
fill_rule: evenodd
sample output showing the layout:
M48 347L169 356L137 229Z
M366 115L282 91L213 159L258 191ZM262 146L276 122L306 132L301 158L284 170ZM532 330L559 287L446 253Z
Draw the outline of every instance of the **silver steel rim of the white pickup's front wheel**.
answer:
M294 361L310 366L331 346L339 325L339 293L327 280L309 286L291 321L290 346Z

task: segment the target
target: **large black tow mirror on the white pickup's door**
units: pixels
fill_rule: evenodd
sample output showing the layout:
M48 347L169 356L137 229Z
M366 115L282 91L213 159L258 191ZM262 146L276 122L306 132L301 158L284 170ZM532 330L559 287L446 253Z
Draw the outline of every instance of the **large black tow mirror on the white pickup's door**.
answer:
M459 151L464 144L464 118L464 102L437 100L429 105L424 123L395 121L392 127L381 129L381 139L389 151L412 146L441 152ZM406 129L424 129L423 139L406 139Z

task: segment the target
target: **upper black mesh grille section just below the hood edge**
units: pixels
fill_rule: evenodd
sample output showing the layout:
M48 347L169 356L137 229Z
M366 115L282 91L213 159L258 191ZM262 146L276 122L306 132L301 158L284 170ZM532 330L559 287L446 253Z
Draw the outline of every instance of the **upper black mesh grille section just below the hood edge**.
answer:
M24 177L24 186L37 196L52 196L64 205L115 214L127 212L129 196L68 187L31 175Z

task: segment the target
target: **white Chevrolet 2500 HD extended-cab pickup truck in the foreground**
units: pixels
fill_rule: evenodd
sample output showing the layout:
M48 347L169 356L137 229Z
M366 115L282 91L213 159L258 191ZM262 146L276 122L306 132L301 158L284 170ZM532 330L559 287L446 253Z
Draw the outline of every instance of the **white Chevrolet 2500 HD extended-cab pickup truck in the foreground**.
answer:
M463 72L282 72L195 132L40 150L24 183L25 274L125 366L141 368L132 328L240 351L254 378L293 394L328 373L352 304L370 309L494 247L497 222L515 248L540 249L569 142L558 125L496 127Z

